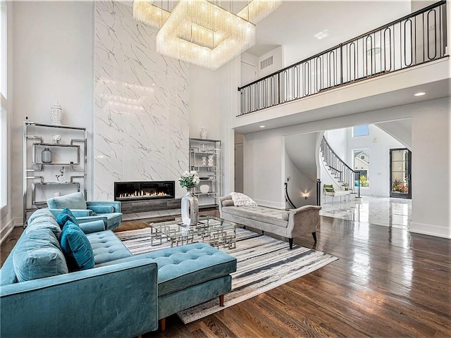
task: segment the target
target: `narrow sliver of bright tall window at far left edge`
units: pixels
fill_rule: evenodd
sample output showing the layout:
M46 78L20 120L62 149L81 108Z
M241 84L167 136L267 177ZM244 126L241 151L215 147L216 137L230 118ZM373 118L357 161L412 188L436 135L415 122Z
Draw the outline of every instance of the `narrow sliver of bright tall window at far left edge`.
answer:
M6 184L7 184L7 141L8 141L8 129L7 125L7 101L6 101L6 2L4 0L0 1L0 71L1 71L1 82L0 82L0 208L6 206Z

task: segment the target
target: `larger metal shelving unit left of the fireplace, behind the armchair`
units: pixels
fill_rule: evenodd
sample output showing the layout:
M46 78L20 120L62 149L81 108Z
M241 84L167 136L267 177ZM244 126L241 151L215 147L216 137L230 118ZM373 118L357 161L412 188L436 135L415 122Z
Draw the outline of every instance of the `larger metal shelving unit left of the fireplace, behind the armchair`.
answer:
M59 135L61 140L54 141ZM42 151L51 151L51 163L42 161ZM86 128L68 125L23 123L23 222L38 208L47 206L55 194L84 192L87 170ZM64 175L62 175L64 174Z

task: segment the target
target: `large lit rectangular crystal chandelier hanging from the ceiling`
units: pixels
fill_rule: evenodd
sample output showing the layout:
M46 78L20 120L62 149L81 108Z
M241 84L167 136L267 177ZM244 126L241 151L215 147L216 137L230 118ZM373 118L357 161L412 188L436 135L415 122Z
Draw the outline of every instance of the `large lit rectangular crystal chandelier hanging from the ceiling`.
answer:
M251 0L236 15L208 0L180 0L169 12L134 0L133 18L159 28L156 51L163 56L217 69L255 44L255 24L282 0Z

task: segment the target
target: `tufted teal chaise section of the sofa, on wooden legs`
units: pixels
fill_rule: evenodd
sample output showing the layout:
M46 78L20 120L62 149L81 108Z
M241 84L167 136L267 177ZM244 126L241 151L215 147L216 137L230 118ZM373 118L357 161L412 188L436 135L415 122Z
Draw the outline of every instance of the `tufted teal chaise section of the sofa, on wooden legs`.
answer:
M216 297L219 297L219 305L223 306L224 294L232 289L230 273L237 270L237 258L205 243L140 253L96 264L96 267L124 263L138 257L152 258L158 265L158 318L162 331L166 327L166 317L178 311Z

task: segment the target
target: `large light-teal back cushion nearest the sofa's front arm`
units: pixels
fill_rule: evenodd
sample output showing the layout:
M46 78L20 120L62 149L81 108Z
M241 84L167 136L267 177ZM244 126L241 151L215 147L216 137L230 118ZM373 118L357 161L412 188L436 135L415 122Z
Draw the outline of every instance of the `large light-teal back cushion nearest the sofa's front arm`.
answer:
M39 228L25 233L13 253L18 282L68 273L68 265L54 233Z

